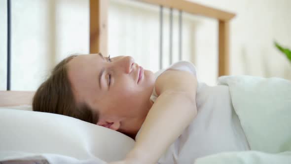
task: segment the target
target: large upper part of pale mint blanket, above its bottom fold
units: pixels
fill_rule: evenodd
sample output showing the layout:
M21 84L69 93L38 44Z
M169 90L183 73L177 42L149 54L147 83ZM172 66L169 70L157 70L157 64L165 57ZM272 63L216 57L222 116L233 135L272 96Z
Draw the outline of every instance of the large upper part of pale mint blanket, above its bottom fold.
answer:
M280 78L225 76L235 111L252 150L291 151L291 81Z

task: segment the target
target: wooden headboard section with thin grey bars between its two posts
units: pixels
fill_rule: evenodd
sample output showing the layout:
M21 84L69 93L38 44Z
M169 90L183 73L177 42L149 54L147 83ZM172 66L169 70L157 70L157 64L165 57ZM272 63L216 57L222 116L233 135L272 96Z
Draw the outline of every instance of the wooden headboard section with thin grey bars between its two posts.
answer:
M200 15L207 18L213 18L218 21L218 77L229 75L229 22L235 17L234 13L215 9L205 5L197 4L189 0L137 0L143 3L160 6L160 59L163 56L162 46L162 26L163 26L163 8L171 8L180 11L179 16L179 39L181 44L181 23L182 13L187 12L194 15ZM108 54L108 0L90 0L90 53L102 52ZM170 15L173 10L170 11ZM170 16L170 19L171 18ZM172 24L170 24L170 31ZM173 35L169 37L170 45ZM181 49L181 45L179 45ZM171 58L171 50L170 50ZM181 54L180 54L181 55ZM162 61L162 60L160 60ZM161 65L161 63L160 63ZM161 68L161 67L160 67Z

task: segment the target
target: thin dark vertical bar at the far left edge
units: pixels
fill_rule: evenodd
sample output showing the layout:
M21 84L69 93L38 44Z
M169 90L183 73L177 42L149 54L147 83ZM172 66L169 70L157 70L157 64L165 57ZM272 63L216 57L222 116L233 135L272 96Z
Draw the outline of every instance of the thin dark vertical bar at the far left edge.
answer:
M11 2L7 0L7 90L10 90Z

